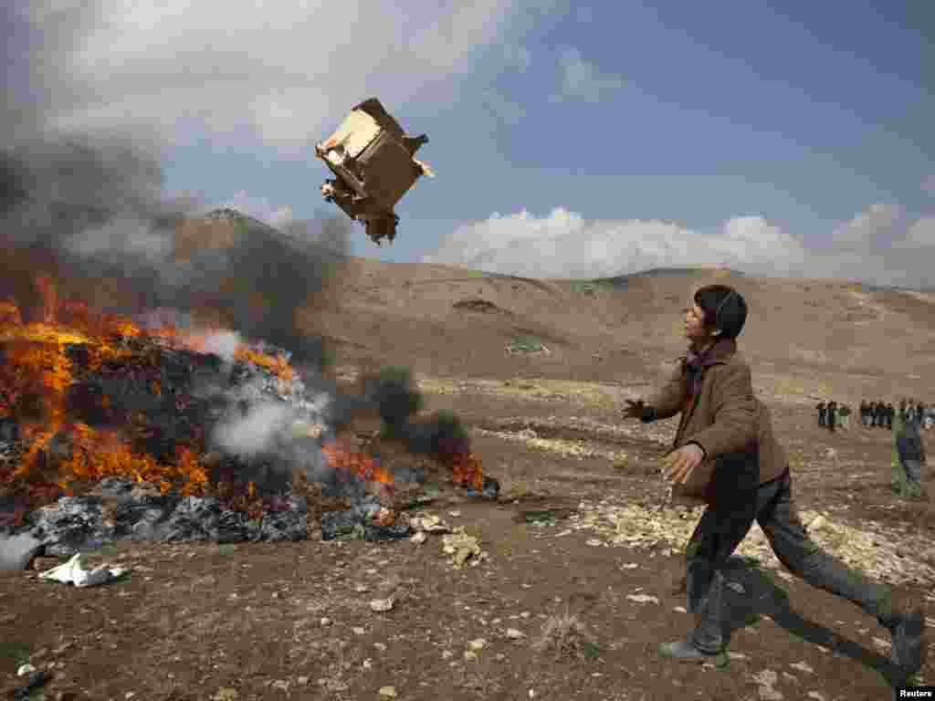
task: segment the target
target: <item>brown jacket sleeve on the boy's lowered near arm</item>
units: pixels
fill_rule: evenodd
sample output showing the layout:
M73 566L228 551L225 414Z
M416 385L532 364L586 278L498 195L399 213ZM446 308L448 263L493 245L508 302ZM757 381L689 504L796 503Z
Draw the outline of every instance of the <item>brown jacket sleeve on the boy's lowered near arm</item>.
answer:
M688 442L698 443L706 457L714 458L743 451L755 443L759 412L747 365L716 365L711 370L722 374L716 379L717 390L712 397L714 422L690 436Z

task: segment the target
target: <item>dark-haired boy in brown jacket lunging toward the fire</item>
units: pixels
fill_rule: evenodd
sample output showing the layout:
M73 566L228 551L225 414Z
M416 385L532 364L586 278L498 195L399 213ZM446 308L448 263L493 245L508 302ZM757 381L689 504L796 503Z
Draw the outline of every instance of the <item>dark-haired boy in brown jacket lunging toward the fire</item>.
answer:
M690 348L682 363L652 401L627 401L624 410L642 422L682 414L666 457L665 475L673 484L686 483L696 470L698 476L711 470L708 506L685 549L688 608L698 622L688 637L664 643L659 651L678 660L723 659L723 568L755 520L790 572L875 616L892 636L893 662L912 675L926 651L921 609L898 610L885 585L819 550L798 519L785 451L772 435L769 409L754 396L750 367L737 353L746 317L746 302L736 290L699 289L685 309Z

